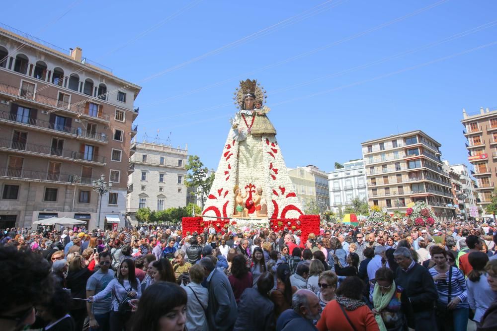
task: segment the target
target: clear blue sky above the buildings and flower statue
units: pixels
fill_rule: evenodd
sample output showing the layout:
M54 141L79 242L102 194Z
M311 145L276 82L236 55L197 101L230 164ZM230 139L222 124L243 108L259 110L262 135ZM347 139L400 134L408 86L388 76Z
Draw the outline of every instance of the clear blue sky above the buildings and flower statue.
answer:
M467 163L462 108L497 108L497 2L15 1L1 21L142 86L146 133L216 168L238 81L265 87L288 167L361 157L420 129ZM489 23L489 24L487 24ZM494 43L494 44L492 44ZM169 133L171 132L171 133Z

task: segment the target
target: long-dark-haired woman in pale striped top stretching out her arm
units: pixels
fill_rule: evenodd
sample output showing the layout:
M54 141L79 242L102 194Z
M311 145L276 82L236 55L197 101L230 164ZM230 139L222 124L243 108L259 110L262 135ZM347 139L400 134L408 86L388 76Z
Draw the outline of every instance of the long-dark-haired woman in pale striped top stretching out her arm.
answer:
M90 302L97 302L112 294L112 311L110 312L110 330L122 331L131 330L127 327L131 317L131 306L125 314L119 313L119 304L131 297L139 299L142 296L140 281L135 276L135 263L131 259L125 259L119 267L119 275L112 279L109 284L92 297L88 297Z

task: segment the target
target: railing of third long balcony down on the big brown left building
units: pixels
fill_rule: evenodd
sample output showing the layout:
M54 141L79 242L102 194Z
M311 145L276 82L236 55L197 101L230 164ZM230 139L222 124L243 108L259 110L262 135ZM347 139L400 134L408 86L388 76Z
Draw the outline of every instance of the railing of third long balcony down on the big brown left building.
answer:
M32 153L40 153L53 156L61 156L71 158L73 160L85 160L90 162L105 163L105 156L96 155L93 153L84 153L74 150L54 148L47 145L37 145L21 141L13 141L11 139L0 138L0 147L16 149Z

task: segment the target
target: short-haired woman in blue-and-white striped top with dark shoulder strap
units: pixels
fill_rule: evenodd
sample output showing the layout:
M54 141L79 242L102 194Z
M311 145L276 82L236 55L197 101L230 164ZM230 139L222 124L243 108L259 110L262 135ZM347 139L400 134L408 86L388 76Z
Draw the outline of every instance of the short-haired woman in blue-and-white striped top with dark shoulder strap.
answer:
M464 274L447 263L447 252L443 248L433 247L431 253L436 265L428 271L438 292L435 311L438 330L466 331L469 304Z

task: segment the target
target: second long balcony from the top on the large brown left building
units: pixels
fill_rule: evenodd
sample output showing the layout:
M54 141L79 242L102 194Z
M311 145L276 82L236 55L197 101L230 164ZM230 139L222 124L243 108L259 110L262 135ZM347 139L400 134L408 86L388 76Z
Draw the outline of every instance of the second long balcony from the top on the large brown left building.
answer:
M12 124L24 128L38 131L51 132L63 136L73 136L78 139L87 139L92 142L107 143L107 135L104 133L91 133L83 131L81 128L67 127L60 124L51 123L44 120L19 116L15 113L0 111L0 123Z

